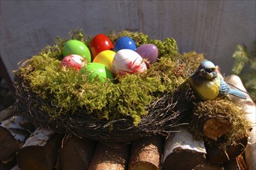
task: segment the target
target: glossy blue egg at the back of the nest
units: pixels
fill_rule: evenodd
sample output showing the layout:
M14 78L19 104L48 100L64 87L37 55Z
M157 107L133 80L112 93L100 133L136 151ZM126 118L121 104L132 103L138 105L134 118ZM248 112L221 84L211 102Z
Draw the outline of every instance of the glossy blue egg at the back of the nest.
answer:
M120 49L135 50L135 41L128 36L120 37L114 44L114 52L118 52Z

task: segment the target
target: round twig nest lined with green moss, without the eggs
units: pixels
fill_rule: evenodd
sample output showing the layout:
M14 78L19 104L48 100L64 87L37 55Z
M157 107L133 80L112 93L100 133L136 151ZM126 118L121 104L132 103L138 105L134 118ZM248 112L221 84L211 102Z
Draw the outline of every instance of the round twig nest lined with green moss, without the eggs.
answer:
M90 36L79 30L70 38L56 38L53 46L22 62L15 71L19 114L36 127L72 133L107 145L123 145L137 138L167 136L186 124L193 107L193 91L187 77L196 70L203 55L180 54L176 41L150 39L142 32L109 32L114 43L121 36L136 46L152 43L159 49L156 63L145 73L118 77L118 83L89 81L86 73L59 70L63 44L77 39L87 46Z

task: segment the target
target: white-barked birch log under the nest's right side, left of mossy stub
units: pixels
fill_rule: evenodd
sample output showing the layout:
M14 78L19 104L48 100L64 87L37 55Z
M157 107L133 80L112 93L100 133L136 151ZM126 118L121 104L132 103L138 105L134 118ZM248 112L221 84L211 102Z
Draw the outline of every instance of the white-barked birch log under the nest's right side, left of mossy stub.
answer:
M186 128L179 128L179 132L172 133L166 139L162 169L192 169L206 159L206 154L203 141L195 140Z

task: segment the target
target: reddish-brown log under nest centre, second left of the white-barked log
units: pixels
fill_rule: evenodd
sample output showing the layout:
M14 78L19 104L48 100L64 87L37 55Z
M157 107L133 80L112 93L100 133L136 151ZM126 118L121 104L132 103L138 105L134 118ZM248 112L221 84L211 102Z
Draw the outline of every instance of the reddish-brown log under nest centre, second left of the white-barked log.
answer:
M98 142L89 170L125 170L128 165L129 147L125 145L120 148L111 148Z

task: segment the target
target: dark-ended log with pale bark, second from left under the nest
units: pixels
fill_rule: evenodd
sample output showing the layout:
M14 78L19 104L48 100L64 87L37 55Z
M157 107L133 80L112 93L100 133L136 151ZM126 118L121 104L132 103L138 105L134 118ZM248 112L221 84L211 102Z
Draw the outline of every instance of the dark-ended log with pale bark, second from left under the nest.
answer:
M43 128L37 128L18 151L19 168L26 170L52 170L56 164L57 151L60 148L62 134L55 134Z

